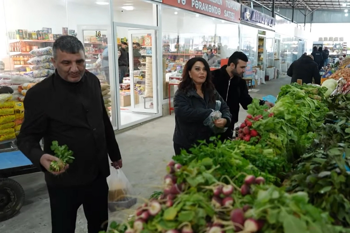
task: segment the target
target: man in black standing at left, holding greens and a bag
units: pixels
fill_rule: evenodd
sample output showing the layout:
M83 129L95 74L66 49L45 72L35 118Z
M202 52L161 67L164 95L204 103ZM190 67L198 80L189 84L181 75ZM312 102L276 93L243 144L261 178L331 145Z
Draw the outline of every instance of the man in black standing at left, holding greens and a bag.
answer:
M80 205L88 232L98 233L108 225L108 155L113 167L123 166L119 146L100 81L85 70L83 44L76 37L61 36L52 50L56 71L28 90L17 145L45 174L52 233L74 233ZM42 138L44 150L39 144ZM50 172L51 161L59 161L50 149L54 140L67 145L75 157L60 172Z

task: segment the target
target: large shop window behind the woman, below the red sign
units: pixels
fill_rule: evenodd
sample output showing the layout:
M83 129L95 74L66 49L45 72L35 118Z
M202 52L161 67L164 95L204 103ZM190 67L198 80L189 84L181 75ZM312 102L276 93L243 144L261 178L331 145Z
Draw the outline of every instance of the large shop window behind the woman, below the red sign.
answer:
M190 22L190 23L189 23ZM187 60L204 57L221 67L239 48L238 24L162 6L163 98L174 95ZM170 89L170 92L169 92Z

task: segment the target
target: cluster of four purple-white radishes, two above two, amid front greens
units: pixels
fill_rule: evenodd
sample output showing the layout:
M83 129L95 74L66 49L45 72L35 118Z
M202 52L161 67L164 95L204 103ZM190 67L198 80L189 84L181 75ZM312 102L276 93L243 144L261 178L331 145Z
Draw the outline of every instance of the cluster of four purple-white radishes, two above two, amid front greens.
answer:
M230 207L233 205L233 198L231 197L233 193L233 186L228 185L216 185L213 188L213 197L211 199L211 204L216 208L220 207Z

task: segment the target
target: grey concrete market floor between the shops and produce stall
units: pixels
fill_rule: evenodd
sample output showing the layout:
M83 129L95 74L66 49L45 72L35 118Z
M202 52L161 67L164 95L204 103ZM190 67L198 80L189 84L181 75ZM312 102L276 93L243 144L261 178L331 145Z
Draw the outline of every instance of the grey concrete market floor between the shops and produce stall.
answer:
M257 87L252 97L274 95L282 85L289 84L289 77L281 77ZM239 112L239 122L246 111ZM129 131L117 134L116 138L123 156L123 171L132 183L135 195L148 198L162 182L167 162L173 156L174 114L161 117ZM1 233L48 233L51 232L49 196L42 173L13 177L26 193L26 201L20 213L7 221L0 222ZM110 221L123 221L132 210L110 214ZM86 219L83 208L78 210L76 233L85 233Z

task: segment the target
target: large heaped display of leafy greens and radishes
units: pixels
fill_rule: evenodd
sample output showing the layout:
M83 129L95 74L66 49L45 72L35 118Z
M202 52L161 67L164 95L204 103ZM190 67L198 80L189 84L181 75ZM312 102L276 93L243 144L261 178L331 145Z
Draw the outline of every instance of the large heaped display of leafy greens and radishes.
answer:
M109 232L350 232L350 95L332 86L253 100L236 140L174 156L163 190Z

